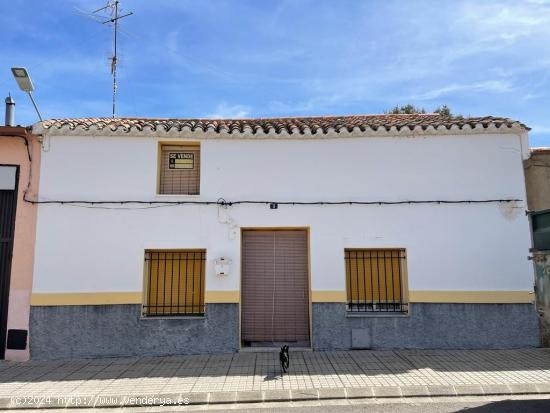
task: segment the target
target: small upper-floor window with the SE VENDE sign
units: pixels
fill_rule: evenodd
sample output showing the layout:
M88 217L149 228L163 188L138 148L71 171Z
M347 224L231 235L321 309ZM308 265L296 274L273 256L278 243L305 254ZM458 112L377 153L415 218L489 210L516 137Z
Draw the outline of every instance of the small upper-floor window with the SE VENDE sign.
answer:
M159 193L198 195L200 161L199 145L161 145Z

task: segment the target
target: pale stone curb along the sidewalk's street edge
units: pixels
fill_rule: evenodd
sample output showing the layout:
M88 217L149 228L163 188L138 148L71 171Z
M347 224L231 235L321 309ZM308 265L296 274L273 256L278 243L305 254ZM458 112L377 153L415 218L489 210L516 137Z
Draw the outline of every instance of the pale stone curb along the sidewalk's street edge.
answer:
M159 393L139 396L29 396L1 397L0 409L64 409L91 407L147 407L216 405L341 399L395 399L415 397L511 396L550 394L550 383L456 386L371 386L300 390Z

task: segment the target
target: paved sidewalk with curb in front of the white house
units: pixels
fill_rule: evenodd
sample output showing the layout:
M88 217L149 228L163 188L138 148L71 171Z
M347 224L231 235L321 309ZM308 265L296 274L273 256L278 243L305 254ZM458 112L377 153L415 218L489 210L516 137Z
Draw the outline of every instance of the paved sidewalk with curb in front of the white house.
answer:
M0 362L0 409L550 394L550 349Z

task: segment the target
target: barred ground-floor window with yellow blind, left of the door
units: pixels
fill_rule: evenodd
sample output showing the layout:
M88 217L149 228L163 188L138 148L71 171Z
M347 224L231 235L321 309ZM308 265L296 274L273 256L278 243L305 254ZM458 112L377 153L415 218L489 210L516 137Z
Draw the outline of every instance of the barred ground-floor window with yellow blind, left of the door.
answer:
M205 265L205 250L145 251L143 315L203 315Z

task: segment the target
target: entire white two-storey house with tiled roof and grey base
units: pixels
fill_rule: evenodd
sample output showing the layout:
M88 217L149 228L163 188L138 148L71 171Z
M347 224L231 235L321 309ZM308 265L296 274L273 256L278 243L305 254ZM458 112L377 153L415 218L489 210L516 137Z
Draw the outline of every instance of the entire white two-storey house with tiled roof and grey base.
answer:
M504 118L59 119L31 356L537 346Z

